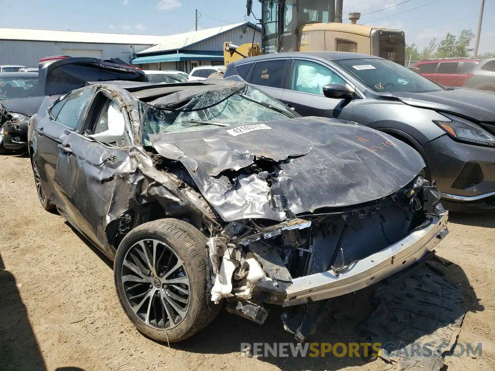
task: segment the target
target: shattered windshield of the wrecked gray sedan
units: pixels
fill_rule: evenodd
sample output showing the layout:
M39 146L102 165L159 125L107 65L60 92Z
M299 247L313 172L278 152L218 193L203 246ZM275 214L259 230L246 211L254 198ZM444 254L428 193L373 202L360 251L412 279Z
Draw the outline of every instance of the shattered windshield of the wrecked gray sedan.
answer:
M205 91L162 107L141 102L143 143L150 134L184 133L299 117L284 104L250 86Z

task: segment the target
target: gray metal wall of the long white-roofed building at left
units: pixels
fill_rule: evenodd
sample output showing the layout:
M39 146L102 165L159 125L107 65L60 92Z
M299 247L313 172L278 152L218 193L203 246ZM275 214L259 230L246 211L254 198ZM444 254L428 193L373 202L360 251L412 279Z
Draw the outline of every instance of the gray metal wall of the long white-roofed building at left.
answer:
M101 50L103 59L120 58L129 61L132 52L152 45L57 43L45 41L0 40L0 64L38 66L39 60L49 55L62 55L62 49Z

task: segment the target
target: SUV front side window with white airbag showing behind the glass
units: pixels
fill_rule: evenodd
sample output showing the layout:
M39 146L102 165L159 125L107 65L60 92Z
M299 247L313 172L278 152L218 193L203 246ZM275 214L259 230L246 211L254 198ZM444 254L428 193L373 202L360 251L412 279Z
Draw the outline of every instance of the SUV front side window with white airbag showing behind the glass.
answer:
M310 61L295 60L291 74L291 90L323 95L323 87L346 82L329 68Z

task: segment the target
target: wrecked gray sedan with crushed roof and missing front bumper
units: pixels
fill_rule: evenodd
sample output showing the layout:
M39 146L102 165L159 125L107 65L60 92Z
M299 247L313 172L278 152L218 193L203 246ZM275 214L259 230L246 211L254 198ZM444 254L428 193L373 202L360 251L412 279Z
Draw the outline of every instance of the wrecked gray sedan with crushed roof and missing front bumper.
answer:
M192 336L226 299L257 323L291 307L302 341L318 303L447 233L411 147L242 83L89 83L47 106L29 127L40 201L114 260L122 307L156 340Z

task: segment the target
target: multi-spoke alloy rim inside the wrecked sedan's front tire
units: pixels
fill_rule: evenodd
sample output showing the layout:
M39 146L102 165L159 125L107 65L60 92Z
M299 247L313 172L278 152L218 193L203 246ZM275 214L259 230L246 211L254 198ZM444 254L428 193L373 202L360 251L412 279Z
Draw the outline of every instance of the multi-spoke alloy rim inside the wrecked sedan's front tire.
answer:
M148 326L170 329L186 317L191 296L184 263L165 242L136 242L122 265L125 300Z

